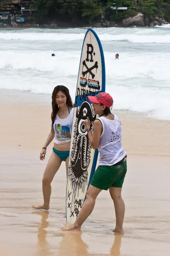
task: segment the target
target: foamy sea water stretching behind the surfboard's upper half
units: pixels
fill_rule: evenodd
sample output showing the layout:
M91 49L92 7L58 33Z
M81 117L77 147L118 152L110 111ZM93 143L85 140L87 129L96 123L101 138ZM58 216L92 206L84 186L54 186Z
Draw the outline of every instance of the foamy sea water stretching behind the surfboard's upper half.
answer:
M63 84L74 100L86 30L0 29L0 89L51 95ZM170 120L170 24L94 30L104 50L106 92L114 109Z

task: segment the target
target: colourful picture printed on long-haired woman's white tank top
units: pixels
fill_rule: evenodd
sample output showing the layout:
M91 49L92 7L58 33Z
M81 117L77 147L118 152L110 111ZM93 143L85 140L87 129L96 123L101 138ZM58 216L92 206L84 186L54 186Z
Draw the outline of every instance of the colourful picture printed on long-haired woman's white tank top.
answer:
M58 141L58 142L63 142L63 139L65 141L68 140L68 142L70 141L71 139L71 133L70 133L70 128L68 126L65 126L65 125L61 125L60 123L57 123L55 125L55 132L56 132L56 137L55 139Z

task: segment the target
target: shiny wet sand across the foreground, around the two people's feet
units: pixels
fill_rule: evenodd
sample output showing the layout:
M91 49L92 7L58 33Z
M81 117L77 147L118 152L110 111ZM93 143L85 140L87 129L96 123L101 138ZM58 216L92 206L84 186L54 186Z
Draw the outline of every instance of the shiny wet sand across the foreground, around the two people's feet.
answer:
M1 151L0 256L170 255L167 157L129 156L130 171L123 189L125 235L121 237L112 233L115 217L108 192L99 195L82 233L60 230L66 221L64 165L53 182L51 209L33 212L30 207L33 198L37 198L37 202L42 200L44 166L36 158L38 153Z

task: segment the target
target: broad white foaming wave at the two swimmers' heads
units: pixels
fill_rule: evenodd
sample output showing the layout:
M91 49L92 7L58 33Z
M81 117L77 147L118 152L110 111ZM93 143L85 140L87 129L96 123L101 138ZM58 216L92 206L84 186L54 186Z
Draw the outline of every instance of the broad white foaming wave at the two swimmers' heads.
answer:
M57 76L77 76L81 51L56 51L55 57L51 57L52 51L0 51L0 70L8 72L46 72ZM106 75L108 79L113 74L116 79L148 78L170 83L169 60L170 53L152 52L147 54L119 52L120 60L114 60L114 54L104 52ZM123 56L121 56L123 55ZM161 66L160 66L161 62ZM66 67L66 63L69 65ZM32 70L32 71L31 71Z

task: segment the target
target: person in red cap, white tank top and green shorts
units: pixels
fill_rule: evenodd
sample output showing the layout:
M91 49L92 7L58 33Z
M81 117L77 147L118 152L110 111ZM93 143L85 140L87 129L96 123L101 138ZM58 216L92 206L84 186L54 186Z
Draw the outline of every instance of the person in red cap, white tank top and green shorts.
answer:
M123 234L125 204L121 192L127 172L127 156L122 147L121 122L118 116L111 113L110 108L113 105L111 95L98 93L96 96L88 96L88 99L93 102L94 113L99 115L94 121L93 134L89 118L84 122L92 148L99 150L99 166L93 175L77 220L74 224L66 224L62 230L80 230L83 222L94 209L96 197L102 189L109 189L116 213L116 227L113 231Z

